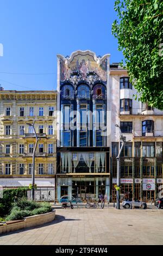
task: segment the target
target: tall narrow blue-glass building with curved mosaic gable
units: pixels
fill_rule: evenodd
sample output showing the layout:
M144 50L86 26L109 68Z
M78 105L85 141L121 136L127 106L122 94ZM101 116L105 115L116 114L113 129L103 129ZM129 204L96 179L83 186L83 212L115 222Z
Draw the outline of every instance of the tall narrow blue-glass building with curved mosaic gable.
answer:
M86 199L109 198L109 147L106 98L109 55L91 51L58 55L57 199L68 194ZM76 118L74 118L76 116ZM74 127L75 126L75 127Z

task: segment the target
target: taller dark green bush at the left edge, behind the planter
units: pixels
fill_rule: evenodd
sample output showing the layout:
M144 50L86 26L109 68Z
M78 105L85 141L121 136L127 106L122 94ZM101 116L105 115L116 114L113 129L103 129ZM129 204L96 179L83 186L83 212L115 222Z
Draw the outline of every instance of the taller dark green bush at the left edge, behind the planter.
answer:
M22 197L27 197L28 188L14 188L14 189L4 189L3 198L0 198L0 216L3 217L8 215L11 210L14 201Z

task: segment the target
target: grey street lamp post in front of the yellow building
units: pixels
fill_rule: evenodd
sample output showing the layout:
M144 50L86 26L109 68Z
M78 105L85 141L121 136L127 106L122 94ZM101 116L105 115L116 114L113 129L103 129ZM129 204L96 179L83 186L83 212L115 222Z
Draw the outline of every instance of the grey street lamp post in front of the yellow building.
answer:
M35 142L35 147L34 147L34 151L33 151L33 159L32 159L32 200L35 200L35 189L34 189L34 184L35 184L35 152L36 152L36 147L37 147L37 142L39 140L39 138L37 137L36 131L35 131L35 127L34 127L34 123L26 123L27 126L32 126L33 130L34 130L34 134L35 134L35 138L36 138L36 142Z

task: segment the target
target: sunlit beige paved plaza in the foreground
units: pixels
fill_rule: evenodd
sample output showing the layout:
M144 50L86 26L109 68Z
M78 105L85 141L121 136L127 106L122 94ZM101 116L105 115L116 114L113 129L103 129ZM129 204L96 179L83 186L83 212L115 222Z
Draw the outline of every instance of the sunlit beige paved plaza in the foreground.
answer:
M0 245L163 245L163 210L56 209L53 222L0 236Z

